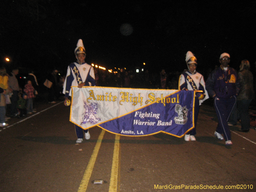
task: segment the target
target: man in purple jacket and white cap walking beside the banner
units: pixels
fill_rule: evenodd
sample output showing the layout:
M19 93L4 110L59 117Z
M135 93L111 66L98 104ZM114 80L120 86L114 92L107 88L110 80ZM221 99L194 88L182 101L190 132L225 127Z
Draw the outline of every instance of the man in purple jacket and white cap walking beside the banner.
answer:
M230 55L222 53L219 61L220 67L211 72L205 83L205 88L209 96L214 99L214 107L219 121L214 135L219 140L223 140L224 136L225 144L232 145L228 117L236 103L239 81L236 70L228 66Z

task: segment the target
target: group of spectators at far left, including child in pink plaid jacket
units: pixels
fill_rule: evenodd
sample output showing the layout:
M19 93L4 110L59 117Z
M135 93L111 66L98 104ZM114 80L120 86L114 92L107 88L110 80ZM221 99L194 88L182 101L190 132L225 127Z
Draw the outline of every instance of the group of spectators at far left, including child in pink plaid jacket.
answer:
M11 117L22 118L36 112L33 107L39 86L36 76L33 71L29 71L25 84L21 86L18 74L18 68L13 68L12 71L0 68L0 127L7 126L5 121Z

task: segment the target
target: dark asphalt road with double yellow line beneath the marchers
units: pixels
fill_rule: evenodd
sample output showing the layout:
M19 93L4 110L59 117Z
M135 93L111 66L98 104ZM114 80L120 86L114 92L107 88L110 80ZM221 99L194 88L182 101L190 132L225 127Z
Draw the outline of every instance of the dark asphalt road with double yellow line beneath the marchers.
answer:
M39 102L36 108L37 113L12 118L0 128L1 192L256 189L256 132L231 126L233 145L226 147L213 135L217 118L212 106L200 108L196 141L164 133L118 137L93 127L91 139L81 144L76 144L70 108L63 102Z

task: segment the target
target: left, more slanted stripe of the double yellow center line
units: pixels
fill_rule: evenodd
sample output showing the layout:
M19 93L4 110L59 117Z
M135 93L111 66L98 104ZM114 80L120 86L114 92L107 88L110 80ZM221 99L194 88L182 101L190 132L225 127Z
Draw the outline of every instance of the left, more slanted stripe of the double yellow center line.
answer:
M97 143L96 143L96 145L95 145L95 147L93 149L92 156L91 156L91 158L89 160L89 163L88 163L88 165L86 167L83 179L82 179L82 181L80 183L80 186L79 186L77 192L85 192L86 189L87 189L87 186L88 186L91 174L92 174L92 170L93 170L93 167L94 167L97 155L99 153L99 149L100 149L100 145L101 145L104 133L105 133L105 130L102 129L102 131L100 133L100 136L99 136L99 138L97 140Z

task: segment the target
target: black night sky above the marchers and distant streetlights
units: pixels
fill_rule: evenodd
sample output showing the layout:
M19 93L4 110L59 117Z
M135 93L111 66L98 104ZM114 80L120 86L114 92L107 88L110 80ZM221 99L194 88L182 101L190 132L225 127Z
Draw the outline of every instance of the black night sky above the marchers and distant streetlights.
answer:
M145 62L154 71L182 71L187 51L202 73L222 52L236 69L243 59L256 61L255 1L14 0L0 6L0 54L13 66L66 71L79 38L86 62L105 68ZM133 28L127 36L120 32L125 23Z

